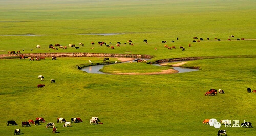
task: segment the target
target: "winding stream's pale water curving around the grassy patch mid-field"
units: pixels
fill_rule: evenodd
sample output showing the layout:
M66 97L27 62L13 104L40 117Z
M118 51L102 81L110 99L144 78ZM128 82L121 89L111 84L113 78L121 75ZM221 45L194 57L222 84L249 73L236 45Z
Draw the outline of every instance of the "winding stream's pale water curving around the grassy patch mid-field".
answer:
M149 59L147 59L147 60L149 60ZM122 62L122 63L128 63L128 62L130 62L130 61L126 61L126 62ZM186 62L186 61L172 61L172 62ZM170 62L164 62L164 63L170 63ZM162 66L160 64L164 64L164 63L158 63L158 64L152 64L152 65ZM113 65L113 64L109 64L109 65ZM94 74L109 74L109 73L104 73L104 72L99 71L103 67L104 67L104 65L87 66L87 67L82 68L82 71L85 71L87 73L94 73ZM190 68L184 68L184 67L173 67L173 69L179 71L178 73L198 71L198 69L190 69ZM110 74L110 75L114 75L114 74Z

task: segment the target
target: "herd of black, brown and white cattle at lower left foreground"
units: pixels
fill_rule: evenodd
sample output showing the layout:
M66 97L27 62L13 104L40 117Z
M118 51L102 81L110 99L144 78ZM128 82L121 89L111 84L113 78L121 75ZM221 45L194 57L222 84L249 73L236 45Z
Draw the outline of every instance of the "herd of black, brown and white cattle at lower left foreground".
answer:
M98 117L92 117L89 121L90 121L90 124L103 124L102 122L100 122ZM40 125L40 122L44 123L46 121L44 118L38 117L38 118L36 118L35 121L34 120L22 121L21 125L22 125L22 127L24 127L24 126L28 127L28 126L31 126L31 124L34 124L35 126L37 126L37 125ZM60 117L57 118L57 123L64 123L63 127L67 127L67 126L71 127L71 123L73 123L73 122L80 123L80 122L82 122L82 119L81 118L71 118L71 122L70 122L70 121L66 121L65 118L60 118ZM18 125L14 120L8 120L6 124L7 124L7 126ZM53 128L53 131L52 131L53 133L56 133L56 131L57 131L57 128L55 127L54 122L47 123L46 128ZM21 130L19 128L17 128L14 130L14 135L21 134L20 132L21 132Z

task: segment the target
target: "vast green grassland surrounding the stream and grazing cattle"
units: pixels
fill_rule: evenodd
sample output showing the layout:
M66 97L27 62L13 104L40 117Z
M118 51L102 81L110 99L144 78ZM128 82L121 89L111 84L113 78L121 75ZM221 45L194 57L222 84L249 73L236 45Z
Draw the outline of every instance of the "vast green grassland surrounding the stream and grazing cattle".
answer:
M99 63L102 58L57 58L57 61L46 58L34 62L0 59L1 135L11 135L16 128L24 135L52 134L52 129L45 128L46 123L21 127L21 121L36 117L55 122L60 132L57 134L61 135L216 135L219 129L202 124L207 118L239 120L239 124L245 120L255 127L256 94L246 92L248 87L256 89L255 1L1 0L0 3L0 55L24 50L22 53L148 54L155 56L151 61L215 58L183 65L200 67L197 72L161 75L88 74L77 70L77 65L88 60ZM125 34L78 35L88 33ZM20 34L38 36L5 36ZM230 35L235 37L228 41ZM191 43L193 37L204 41ZM127 40L132 40L134 46L124 45ZM161 43L164 40L176 49L164 48ZM111 50L92 46L92 41L122 44ZM79 50L48 48L49 44L77 46L80 42L84 46ZM186 50L182 51L180 46ZM139 72L155 71L150 65L129 63L103 69L134 72L136 68ZM38 79L38 75L44 75L45 80ZM37 88L37 84L46 86ZM225 94L204 96L211 88L223 89ZM98 116L103 124L90 125L93 116ZM57 117L68 121L80 117L83 122L62 127ZM15 120L19 125L6 126L7 120ZM222 125L220 129L226 129L227 135L256 135L255 128Z

